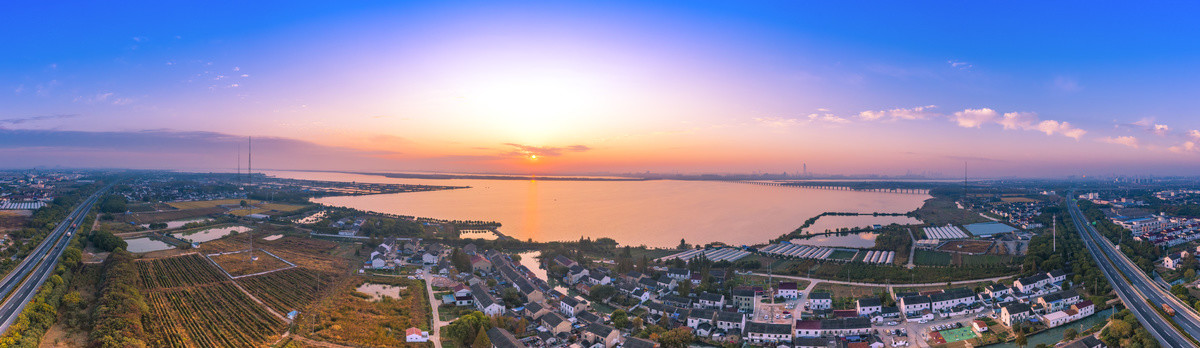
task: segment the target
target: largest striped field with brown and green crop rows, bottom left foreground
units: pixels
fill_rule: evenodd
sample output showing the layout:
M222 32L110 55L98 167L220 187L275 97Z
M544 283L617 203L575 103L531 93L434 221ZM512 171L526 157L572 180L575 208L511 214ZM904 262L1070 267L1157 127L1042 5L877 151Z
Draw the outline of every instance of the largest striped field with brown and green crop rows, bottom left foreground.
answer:
M146 293L151 347L263 347L284 322L232 282Z

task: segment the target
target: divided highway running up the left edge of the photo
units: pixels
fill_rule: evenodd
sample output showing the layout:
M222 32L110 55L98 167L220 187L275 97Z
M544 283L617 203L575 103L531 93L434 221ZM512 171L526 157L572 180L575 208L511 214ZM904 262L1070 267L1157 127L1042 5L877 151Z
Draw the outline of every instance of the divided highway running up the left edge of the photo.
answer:
M0 322L0 334L8 330L8 326L17 320L22 310L25 308L25 305L37 295L37 289L42 287L42 283L54 274L54 269L59 264L59 257L71 245L71 236L76 234L78 226L88 217L88 212L91 211L91 206L100 199L100 196L109 187L106 186L96 191L96 193L92 193L76 206L67 215L67 218L62 223L59 223L34 252L26 256L16 269L0 281L0 295L4 296L4 301L0 302L0 320L2 320Z

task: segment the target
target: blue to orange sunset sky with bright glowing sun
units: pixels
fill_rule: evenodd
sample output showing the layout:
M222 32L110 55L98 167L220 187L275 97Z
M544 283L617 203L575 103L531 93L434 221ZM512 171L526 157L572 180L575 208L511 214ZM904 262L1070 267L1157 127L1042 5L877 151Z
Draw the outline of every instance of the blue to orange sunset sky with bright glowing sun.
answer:
M1200 169L1195 2L5 2L0 167Z

